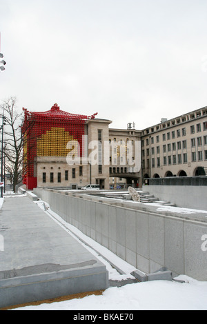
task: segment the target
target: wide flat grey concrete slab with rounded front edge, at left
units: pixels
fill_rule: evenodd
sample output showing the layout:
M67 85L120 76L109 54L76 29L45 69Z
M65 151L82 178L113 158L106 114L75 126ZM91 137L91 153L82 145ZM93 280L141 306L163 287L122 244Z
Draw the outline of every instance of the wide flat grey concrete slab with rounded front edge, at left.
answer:
M27 197L4 200L0 236L0 307L108 287L105 265Z

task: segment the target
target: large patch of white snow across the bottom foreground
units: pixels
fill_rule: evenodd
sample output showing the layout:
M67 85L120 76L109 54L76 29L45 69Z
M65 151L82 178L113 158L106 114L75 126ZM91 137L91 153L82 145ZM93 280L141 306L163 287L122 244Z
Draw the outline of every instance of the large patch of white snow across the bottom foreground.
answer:
M187 276L181 276L181 279L185 279L186 283L132 283L108 288L101 296L19 307L16 310L207 310L207 283L188 279Z

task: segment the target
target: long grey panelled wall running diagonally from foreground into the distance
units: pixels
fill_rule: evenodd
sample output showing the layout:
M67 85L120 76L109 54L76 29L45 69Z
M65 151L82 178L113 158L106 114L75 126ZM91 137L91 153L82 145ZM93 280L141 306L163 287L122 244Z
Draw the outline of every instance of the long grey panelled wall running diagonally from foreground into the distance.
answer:
M201 249L207 223L91 201L72 193L41 189L34 193L65 221L141 272L166 267L173 276L186 274L207 281L207 252Z

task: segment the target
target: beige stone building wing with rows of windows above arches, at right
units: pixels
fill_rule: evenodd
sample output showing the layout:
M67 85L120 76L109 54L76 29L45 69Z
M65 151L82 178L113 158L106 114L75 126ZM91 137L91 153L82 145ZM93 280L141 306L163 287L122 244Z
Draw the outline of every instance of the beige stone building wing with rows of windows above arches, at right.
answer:
M142 130L143 178L207 174L207 107Z

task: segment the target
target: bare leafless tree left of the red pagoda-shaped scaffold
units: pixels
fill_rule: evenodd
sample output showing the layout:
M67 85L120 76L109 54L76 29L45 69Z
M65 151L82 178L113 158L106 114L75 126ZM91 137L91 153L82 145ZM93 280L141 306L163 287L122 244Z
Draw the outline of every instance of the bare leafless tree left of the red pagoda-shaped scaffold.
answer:
M1 104L2 121L4 125L4 134L6 146L3 153L6 157L5 169L10 174L13 191L22 181L23 165L23 134L21 126L23 125L23 112L17 110L17 99L10 97ZM3 125L1 126L1 128Z

